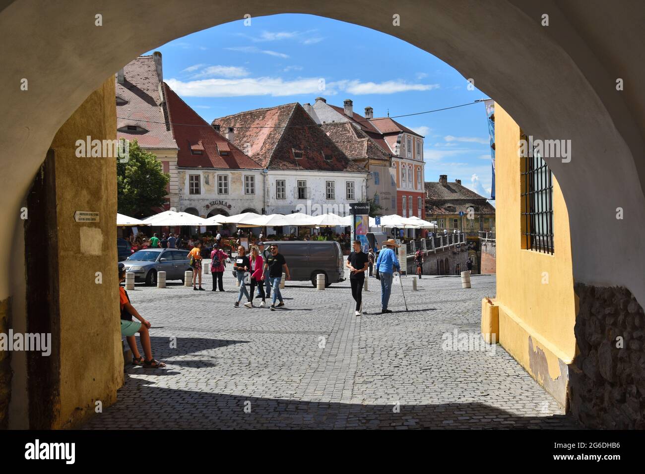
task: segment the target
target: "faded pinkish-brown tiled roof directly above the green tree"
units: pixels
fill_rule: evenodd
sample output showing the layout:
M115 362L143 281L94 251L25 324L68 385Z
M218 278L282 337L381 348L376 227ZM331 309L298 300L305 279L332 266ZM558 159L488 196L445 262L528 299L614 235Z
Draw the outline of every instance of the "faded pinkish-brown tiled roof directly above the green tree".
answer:
M164 117L163 99L159 96L159 77L152 56L139 56L123 68L124 83L115 76L117 96L117 130L128 125L147 132L118 132L118 138L136 139L142 148L177 148ZM119 105L118 99L126 103Z

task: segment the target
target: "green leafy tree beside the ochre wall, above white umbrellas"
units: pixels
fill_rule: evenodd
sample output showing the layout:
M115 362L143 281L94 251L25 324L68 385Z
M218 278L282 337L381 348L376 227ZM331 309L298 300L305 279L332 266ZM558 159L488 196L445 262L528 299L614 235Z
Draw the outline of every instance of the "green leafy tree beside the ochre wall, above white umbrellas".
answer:
M152 208L166 202L169 181L170 175L163 172L161 161L143 150L136 140L131 141L128 160L117 160L119 213L137 219L152 214Z

